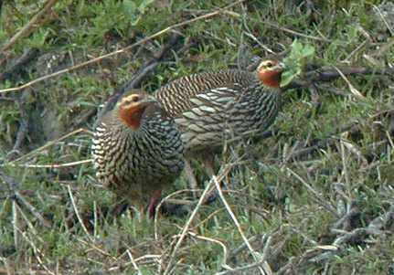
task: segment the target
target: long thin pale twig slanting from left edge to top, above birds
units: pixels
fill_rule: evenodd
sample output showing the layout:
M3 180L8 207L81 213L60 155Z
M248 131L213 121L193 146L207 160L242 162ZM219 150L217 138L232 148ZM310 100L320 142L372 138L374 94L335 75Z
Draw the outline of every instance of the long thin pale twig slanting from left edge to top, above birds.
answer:
M54 1L54 0L52 0L52 1ZM59 71L57 71L57 72L54 72L54 73L52 73L52 74L49 74L49 75L40 77L40 78L38 78L38 79L34 79L34 80L32 80L32 81L30 81L30 82L27 82L26 84L21 85L21 86L14 87L14 88L9 88L9 89L4 89L4 90L0 90L0 94L1 94L1 93L5 93L5 92L9 92L9 91L23 90L23 89L25 89L25 88L27 88L27 87L30 87L30 86L32 86L32 85L34 85L34 84L37 84L38 82L40 82L40 81L42 81L42 80L50 79L50 78L59 76L59 75L61 75L61 74L70 72L70 71L72 71L72 70L80 69L80 68L86 67L86 66L88 66L88 65L97 63L97 62L101 61L102 59L111 58L111 57L113 57L113 56L116 56L116 55L125 53L125 52L127 52L127 51L132 50L133 48L136 48L136 47L139 46L139 45L144 44L145 42L147 42L147 41L149 41L149 40L154 39L155 37L160 37L160 36L164 35L165 33L169 32L169 31L171 31L171 30L176 29L177 27L186 26L186 25L188 25L188 24L192 24L192 23L195 23L195 22L200 21L200 20L205 20L205 19L208 19L208 18L213 17L213 16L218 16L218 15L222 14L225 10L227 10L227 9L229 9L229 8L235 6L235 5L239 5L240 3L243 3L243 2L245 2L245 1L247 1L247 0L238 0L238 1L236 1L236 2L234 2L234 3L232 3L232 4L230 4L230 5L226 5L226 6L223 7L223 8L219 8L217 11L211 12L211 13L209 13L209 14L207 14L207 15L198 16L198 17L196 17L196 18L186 20L186 21L184 21L184 22L175 24L175 25L173 25L173 26L167 26L167 27L165 27L164 29L162 29L162 30L156 32L154 35L152 35L152 36L150 36L150 37L146 37L146 38L144 38L144 39L141 39L140 41L138 41L138 42L134 43L133 45L130 45L130 46L126 47L126 48L122 48L122 49L113 51L112 53L103 55L103 56L101 56L101 57L99 57L99 58L93 58L93 59L91 59L91 60L89 60L89 61L80 63L80 65L77 65L77 66L74 66L74 67L71 67L71 68L68 68L68 69L61 69L61 70L59 70Z

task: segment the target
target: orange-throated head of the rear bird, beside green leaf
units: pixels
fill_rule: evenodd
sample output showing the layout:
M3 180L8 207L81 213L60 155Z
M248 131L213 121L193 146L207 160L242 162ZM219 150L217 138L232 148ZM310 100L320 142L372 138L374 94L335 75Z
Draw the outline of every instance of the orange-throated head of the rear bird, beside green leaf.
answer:
M264 86L279 89L282 71L286 69L282 61L270 58L263 60L257 68L257 77Z

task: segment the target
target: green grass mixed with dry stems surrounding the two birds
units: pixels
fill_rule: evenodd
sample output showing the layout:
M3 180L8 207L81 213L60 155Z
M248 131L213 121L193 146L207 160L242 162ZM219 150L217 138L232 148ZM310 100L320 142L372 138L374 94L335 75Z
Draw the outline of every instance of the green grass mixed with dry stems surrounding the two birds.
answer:
M255 274L259 269L250 265L260 257L275 274L393 274L394 84L388 76L347 77L366 100L351 96L343 79L316 83L318 102L310 90L288 90L270 137L218 155L224 198L240 227L220 198L190 220L190 215L146 219L133 210L110 215L119 200L97 182L90 163L50 167L91 158L89 132L59 138L92 130L100 105L175 33L181 38L144 76L144 89L197 71L237 67L243 42L264 56L290 48L296 38L314 47L315 64L392 67L394 48L380 49L392 41L394 26L389 29L389 17L384 23L377 12L389 10L388 1L319 1L312 9L297 2L246 1L90 66L2 92L0 274L230 274L228 267ZM0 54L1 66L9 69L23 53L37 50L0 81L0 90L231 3L59 1ZM0 45L43 5L3 2ZM201 196L209 179L197 161L193 165ZM186 188L182 175L165 195ZM260 256L252 257L241 233Z

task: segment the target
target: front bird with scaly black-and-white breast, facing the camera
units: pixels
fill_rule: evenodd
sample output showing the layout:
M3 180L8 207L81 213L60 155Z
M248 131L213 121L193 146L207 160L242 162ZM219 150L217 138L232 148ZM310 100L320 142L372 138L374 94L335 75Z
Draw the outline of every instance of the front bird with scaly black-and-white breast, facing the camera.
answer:
M108 100L95 123L91 149L102 185L151 217L161 190L185 165L174 119L144 90L126 90Z

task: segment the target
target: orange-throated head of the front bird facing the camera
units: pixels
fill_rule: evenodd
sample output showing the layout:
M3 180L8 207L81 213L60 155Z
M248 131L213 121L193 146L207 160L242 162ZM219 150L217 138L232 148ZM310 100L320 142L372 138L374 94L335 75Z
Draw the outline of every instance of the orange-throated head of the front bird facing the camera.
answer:
M138 130L146 107L158 101L147 93L131 93L123 96L116 104L119 117L133 130Z

